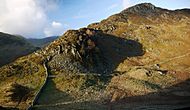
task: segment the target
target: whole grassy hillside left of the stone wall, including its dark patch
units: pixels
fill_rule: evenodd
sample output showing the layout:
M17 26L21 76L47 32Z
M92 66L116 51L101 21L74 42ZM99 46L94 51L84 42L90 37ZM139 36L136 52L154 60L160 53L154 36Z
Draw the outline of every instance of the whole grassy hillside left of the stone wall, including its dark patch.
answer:
M33 54L0 68L0 105L19 109L30 106L46 77L43 60L42 56ZM27 94L22 89L14 88L14 84L28 88Z

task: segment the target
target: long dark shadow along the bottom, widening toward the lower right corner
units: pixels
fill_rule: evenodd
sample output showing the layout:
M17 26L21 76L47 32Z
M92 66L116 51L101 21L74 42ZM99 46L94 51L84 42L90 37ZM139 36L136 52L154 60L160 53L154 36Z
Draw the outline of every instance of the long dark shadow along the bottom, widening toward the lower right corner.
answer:
M63 110L188 110L190 108L190 80L186 80L174 86L162 89L158 92L142 96L127 97L110 102L105 101L83 101L71 104L49 106L48 109ZM189 92L184 94L183 92ZM175 94L175 92L181 92ZM47 109L47 108L43 108Z

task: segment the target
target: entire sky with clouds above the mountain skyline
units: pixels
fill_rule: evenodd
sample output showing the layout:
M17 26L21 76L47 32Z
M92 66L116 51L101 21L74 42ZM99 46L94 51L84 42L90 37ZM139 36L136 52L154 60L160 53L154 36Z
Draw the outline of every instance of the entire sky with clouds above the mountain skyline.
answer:
M26 38L62 35L145 2L171 10L190 8L190 0L0 0L0 32Z

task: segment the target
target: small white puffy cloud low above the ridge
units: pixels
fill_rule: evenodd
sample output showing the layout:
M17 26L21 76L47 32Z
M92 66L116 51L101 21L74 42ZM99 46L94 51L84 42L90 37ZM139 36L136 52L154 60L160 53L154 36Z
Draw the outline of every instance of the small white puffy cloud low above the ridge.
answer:
M55 36L55 35L62 35L63 32L66 30L66 28L68 28L69 25L67 24L61 24L60 22L56 22L56 21L53 21L51 23L51 25L49 25L48 27L46 27L44 29L44 34L46 37L49 37L49 36Z

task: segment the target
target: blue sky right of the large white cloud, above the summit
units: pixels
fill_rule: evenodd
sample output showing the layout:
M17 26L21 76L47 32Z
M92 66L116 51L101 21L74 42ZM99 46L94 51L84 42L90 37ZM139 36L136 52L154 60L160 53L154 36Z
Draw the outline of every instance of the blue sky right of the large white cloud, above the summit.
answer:
M81 2L83 1L83 2ZM61 3L56 19L70 28L80 28L90 23L101 21L112 14L138 3L149 2L156 6L178 9L190 7L190 0L72 0L68 4ZM162 2L158 2L162 1ZM50 14L51 16L51 14ZM52 20L55 17L52 15Z

